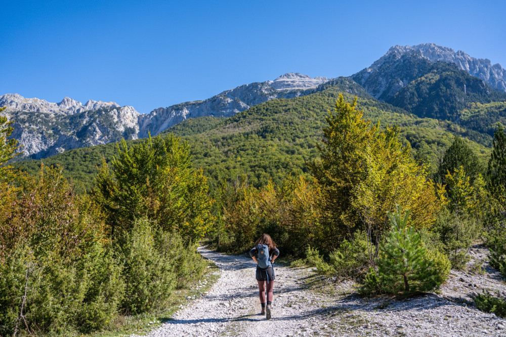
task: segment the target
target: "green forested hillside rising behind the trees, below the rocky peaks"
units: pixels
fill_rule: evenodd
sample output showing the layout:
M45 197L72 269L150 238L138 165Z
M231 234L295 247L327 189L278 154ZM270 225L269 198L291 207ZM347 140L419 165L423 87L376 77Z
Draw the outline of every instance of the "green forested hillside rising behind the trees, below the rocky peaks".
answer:
M359 94L358 104L365 117L382 127L399 125L401 137L413 147L415 158L434 164L441 149L448 147L453 135L465 137L470 146L482 157L489 154L492 137L449 121L419 118L405 110L375 100L350 79L336 80L314 94L276 99L239 112L233 117L199 117L188 119L162 134L173 133L182 137L191 147L195 167L202 167L213 188L223 179L247 175L255 186L265 185L269 179L280 182L292 174L307 173L306 161L317 155L316 144L322 134L327 111L339 92L348 101ZM138 140L128 141L135 144ZM46 165L60 164L67 177L83 191L93 184L101 157L112 157L115 144L66 151L44 159ZM28 172L36 172L40 161L16 163ZM432 166L431 166L432 167ZM434 171L433 169L431 169Z

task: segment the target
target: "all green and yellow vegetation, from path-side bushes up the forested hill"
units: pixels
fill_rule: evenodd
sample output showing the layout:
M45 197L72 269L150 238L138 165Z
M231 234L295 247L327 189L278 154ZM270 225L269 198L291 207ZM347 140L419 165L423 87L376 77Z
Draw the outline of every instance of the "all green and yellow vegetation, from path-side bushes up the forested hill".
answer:
M437 290L478 240L506 276L500 126L485 160L485 138L456 124L326 89L173 129L186 138L52 158L96 165L76 192L62 166L9 166L0 118L1 335L97 333L172 308L206 270L204 238L238 253L269 233L295 265L353 278L363 296ZM500 301L477 298L492 312Z

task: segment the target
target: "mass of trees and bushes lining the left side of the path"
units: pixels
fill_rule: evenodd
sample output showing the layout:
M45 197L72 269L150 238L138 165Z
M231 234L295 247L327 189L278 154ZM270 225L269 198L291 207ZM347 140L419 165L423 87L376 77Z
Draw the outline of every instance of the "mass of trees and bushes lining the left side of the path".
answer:
M0 335L101 330L173 306L202 277L196 245L213 199L185 143L123 143L77 195L60 167L29 176L6 165L16 144L0 123Z

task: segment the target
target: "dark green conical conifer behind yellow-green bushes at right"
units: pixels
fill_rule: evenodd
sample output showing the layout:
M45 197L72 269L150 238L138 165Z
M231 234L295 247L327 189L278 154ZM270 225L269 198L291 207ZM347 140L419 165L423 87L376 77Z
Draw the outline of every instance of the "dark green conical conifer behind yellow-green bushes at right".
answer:
M445 177L448 172L453 174L460 166L463 167L466 174L470 177L471 185L473 185L478 175L482 172L480 160L462 138L455 136L451 146L439 159L436 182L441 185L446 184Z

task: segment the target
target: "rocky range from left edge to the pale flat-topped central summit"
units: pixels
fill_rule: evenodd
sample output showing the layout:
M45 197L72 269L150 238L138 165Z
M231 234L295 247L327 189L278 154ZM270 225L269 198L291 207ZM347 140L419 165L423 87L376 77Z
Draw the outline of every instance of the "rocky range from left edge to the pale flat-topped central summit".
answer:
M305 95L325 77L288 73L274 80L254 82L226 90L204 101L185 102L141 114L132 106L88 101L85 105L65 97L60 103L18 94L0 96L14 121L12 137L23 145L25 157L45 158L65 150L107 144L124 139L155 136L187 118L230 117L251 106L275 99Z

